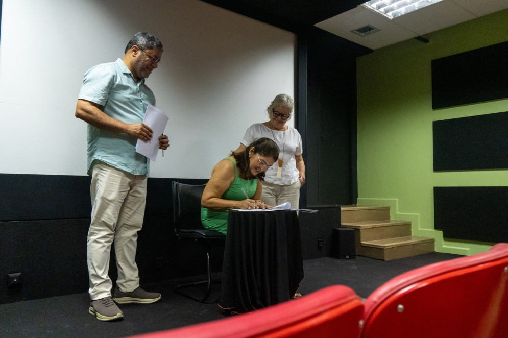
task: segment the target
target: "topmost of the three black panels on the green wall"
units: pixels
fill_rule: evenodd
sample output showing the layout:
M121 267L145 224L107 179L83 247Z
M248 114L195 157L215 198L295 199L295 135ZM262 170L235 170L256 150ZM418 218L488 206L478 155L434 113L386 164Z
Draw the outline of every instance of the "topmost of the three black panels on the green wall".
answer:
M432 108L508 98L508 42L432 60Z

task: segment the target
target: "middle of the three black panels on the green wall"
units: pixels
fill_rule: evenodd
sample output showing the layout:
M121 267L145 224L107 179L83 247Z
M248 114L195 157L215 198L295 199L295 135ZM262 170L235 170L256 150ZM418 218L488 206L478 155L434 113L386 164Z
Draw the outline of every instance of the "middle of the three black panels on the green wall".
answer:
M434 171L508 168L508 112L432 123Z

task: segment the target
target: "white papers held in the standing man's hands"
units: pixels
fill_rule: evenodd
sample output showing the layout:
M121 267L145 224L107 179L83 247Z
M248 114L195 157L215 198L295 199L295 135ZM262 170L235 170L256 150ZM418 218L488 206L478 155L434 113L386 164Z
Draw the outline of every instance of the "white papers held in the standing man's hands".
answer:
M157 152L159 151L159 136L164 133L166 129L168 118L157 107L148 105L147 112L144 114L143 123L152 128L153 136L148 142L137 140L136 152L148 157L155 162L157 159Z

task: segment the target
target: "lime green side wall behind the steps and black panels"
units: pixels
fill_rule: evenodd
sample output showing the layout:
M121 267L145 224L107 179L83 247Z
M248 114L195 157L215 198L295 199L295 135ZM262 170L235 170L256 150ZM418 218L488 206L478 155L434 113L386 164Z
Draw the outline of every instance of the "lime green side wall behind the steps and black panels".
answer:
M508 40L508 10L375 50L357 59L358 201L389 205L436 251L473 255L492 243L443 239L434 186L508 186L508 170L433 172L432 122L508 111L508 100L432 110L431 60ZM506 75L508 76L508 74Z

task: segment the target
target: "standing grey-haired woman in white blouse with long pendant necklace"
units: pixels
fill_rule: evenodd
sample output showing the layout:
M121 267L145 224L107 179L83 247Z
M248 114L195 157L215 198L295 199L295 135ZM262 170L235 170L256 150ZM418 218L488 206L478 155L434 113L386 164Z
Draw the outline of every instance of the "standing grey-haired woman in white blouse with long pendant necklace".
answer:
M235 152L245 151L247 144L260 137L273 139L280 149L279 160L266 172L261 198L268 205L290 202L291 207L297 209L300 187L305 183L305 163L300 133L295 128L286 126L294 106L291 96L275 96L267 108L270 120L250 126Z

